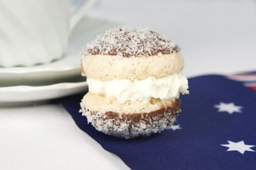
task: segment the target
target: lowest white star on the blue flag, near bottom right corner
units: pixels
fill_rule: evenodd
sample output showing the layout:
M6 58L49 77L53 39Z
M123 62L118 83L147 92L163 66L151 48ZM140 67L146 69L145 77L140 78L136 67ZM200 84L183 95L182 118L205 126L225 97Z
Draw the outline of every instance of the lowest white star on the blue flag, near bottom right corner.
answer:
M227 151L238 151L241 154L244 154L245 151L255 152L254 150L250 149L255 147L255 145L245 144L243 140L239 142L232 142L227 141L229 144L221 144L223 147L227 147Z

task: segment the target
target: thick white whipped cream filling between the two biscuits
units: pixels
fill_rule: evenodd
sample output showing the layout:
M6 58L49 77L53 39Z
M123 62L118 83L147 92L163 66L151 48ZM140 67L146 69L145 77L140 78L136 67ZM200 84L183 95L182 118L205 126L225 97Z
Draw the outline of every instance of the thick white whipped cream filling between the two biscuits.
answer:
M188 94L188 81L183 74L173 74L163 78L148 77L143 80L113 79L101 81L87 78L89 91L106 96L108 101L148 102L151 98L168 100L179 98L180 93Z

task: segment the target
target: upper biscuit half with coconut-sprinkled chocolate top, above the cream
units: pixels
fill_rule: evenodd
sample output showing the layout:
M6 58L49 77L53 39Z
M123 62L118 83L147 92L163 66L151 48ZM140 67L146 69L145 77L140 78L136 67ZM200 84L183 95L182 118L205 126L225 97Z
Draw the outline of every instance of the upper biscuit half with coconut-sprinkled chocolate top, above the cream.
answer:
M179 74L180 48L148 29L114 28L87 44L81 55L82 75L98 80L161 78Z

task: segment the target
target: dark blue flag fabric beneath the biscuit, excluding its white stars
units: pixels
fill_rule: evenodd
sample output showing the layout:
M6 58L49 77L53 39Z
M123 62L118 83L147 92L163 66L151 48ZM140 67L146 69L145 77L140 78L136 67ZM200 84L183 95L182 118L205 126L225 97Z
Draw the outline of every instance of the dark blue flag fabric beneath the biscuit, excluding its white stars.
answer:
M256 145L256 92L219 75L188 82L190 94L181 96L182 112L175 123L182 129L150 137L125 140L96 131L78 113L84 94L59 102L81 130L132 169L256 169L256 152L227 152L228 148L221 145L228 140ZM215 106L220 102L242 106L241 112L218 112ZM256 147L250 149L256 151Z

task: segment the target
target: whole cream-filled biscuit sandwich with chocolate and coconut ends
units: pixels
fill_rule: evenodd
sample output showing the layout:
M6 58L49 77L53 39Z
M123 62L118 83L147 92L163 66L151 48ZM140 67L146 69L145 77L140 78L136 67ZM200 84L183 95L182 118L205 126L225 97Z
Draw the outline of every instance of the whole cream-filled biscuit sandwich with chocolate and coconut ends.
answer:
M126 139L169 129L180 94L189 93L183 66L180 47L155 31L107 30L81 54L89 86L82 115L98 131Z

